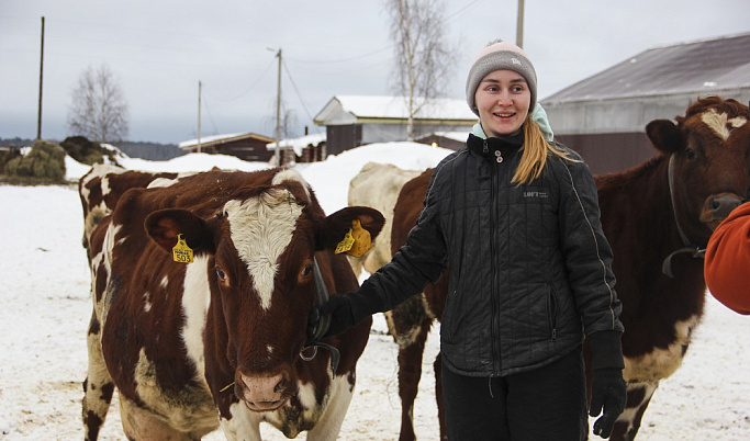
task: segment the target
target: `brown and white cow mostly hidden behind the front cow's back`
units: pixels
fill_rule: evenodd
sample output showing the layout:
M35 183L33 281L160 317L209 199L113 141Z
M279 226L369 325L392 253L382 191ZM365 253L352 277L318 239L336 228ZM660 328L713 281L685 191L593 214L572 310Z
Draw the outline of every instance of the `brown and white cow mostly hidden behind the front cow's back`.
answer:
M83 208L83 248L89 248L91 231L112 213L122 194L135 188L146 188L157 179L175 179L178 173L127 170L109 163L94 163L78 180L78 195Z

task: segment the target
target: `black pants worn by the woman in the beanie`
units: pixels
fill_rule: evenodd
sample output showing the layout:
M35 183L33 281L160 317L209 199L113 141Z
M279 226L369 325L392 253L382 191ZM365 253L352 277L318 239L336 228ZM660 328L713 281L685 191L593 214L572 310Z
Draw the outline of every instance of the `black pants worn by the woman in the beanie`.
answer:
M581 349L534 371L472 377L443 366L451 441L580 441L587 434Z

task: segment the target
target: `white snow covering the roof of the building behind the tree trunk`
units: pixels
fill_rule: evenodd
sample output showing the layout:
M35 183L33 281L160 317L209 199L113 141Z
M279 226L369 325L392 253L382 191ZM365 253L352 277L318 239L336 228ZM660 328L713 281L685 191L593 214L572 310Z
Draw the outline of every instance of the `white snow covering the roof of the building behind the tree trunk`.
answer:
M336 95L315 116L315 123L324 123L335 113L344 111L357 118L396 118L408 117L404 97L387 95ZM477 121L466 100L454 98L435 98L429 100L419 112L421 120L467 120Z

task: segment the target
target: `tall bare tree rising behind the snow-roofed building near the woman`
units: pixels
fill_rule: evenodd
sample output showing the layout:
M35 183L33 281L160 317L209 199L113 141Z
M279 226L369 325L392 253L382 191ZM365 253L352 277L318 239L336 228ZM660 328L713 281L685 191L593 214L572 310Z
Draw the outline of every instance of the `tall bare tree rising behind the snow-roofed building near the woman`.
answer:
M414 139L414 118L446 89L456 66L456 50L445 41L441 0L385 0L395 48L395 89L406 101L406 138Z

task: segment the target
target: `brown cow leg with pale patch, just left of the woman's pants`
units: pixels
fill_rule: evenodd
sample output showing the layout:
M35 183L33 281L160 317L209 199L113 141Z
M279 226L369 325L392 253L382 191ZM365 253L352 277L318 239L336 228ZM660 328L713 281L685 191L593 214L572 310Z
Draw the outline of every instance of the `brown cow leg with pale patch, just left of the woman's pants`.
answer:
M425 342L433 324L421 296L415 296L392 310L395 341L399 344L399 397L401 398L400 441L413 441L414 400L422 378Z

